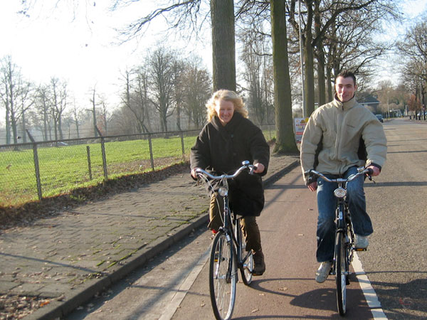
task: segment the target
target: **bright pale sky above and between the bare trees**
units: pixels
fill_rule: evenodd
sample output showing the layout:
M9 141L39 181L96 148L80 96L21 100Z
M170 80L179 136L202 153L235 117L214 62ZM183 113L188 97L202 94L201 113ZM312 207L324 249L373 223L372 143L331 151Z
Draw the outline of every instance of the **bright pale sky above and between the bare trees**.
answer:
M204 67L211 70L210 33L187 46L188 43L161 32L166 26L163 18L152 23L139 41L112 44L117 42L114 28L147 14L161 0L140 0L116 11L108 10L110 0L28 1L33 4L29 17L17 14L21 1L0 1L0 58L11 55L23 76L36 84L47 83L52 77L67 81L78 104L90 103L89 92L95 85L97 92L117 99L123 71L137 65L149 48L165 38L168 48L172 41L174 48L181 48L182 52L192 48L204 58ZM426 9L427 0L407 0L402 4L408 21ZM405 28L387 26L388 37L396 38ZM396 78L387 67L379 73L385 78ZM109 100L114 104L114 98Z

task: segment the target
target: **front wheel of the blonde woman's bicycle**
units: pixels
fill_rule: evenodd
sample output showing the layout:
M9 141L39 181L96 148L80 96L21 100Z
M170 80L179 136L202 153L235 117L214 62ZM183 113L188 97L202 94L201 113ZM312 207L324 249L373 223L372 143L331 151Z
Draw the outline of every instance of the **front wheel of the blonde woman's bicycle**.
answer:
M231 240L226 233L216 234L209 261L209 292L216 319L231 319L236 301L236 259L233 257Z

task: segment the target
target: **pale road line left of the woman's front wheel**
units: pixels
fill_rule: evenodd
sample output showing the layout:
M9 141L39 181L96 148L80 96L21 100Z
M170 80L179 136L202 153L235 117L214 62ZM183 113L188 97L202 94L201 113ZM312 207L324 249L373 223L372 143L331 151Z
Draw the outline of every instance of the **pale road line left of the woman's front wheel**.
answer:
M176 294L172 298L171 302L168 304L167 308L164 309L162 316L159 320L170 320L172 316L174 316L176 309L178 309L179 304L181 304L182 300L186 296L187 292L193 285L194 281L196 281L197 276L203 269L206 261L208 260L209 253L211 252L211 247L209 246L208 250L204 252L204 254L197 260L194 268L191 268L191 272L187 274L186 279L182 282L181 286L178 290L176 290Z

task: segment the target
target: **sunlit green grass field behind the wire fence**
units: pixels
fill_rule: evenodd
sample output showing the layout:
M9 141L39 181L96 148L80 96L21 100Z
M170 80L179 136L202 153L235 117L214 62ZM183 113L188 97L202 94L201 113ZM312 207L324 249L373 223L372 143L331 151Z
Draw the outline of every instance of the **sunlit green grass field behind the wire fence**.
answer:
M185 154L196 137L184 137ZM86 147L90 147L90 179ZM182 161L181 139L152 139L155 169ZM0 152L0 206L16 206L38 199L33 150ZM151 169L149 141L139 139L106 142L108 178ZM94 186L104 180L101 144L38 147L43 197L68 193L73 188Z

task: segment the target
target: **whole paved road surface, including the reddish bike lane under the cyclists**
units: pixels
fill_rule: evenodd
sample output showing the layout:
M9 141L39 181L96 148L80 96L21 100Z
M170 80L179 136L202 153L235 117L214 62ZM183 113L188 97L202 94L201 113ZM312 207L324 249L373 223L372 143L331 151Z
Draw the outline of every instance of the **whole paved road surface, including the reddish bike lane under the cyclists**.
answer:
M427 125L393 119L384 130L388 160L365 188L374 234L359 260L388 319L426 319ZM270 186L265 198L258 224L267 270L251 287L238 283L233 319L339 319L334 278L314 280L317 208L300 169ZM199 230L67 319L213 319L210 242L209 232ZM381 319L381 309L369 306L352 280L346 318L374 319L373 311Z

